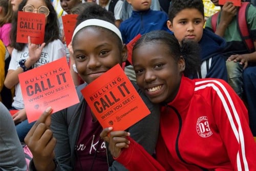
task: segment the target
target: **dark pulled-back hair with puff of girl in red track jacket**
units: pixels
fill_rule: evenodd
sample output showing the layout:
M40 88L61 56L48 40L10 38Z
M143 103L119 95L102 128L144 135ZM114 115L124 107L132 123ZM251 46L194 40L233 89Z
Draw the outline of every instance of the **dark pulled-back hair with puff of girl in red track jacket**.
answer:
M200 69L200 46L195 41L182 40L179 41L173 34L170 34L163 30L152 31L142 35L133 47L133 51L139 48L141 45L148 44L148 42L159 42L164 46L169 47L169 55L172 56L175 61L178 61L182 56L185 60L184 75L189 77Z

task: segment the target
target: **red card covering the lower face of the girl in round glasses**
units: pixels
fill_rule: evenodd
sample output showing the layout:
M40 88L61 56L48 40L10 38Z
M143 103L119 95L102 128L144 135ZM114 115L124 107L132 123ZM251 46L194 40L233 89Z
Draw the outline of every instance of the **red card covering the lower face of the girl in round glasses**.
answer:
M45 14L18 11L17 42L28 43L28 36L32 44L42 44L45 38Z

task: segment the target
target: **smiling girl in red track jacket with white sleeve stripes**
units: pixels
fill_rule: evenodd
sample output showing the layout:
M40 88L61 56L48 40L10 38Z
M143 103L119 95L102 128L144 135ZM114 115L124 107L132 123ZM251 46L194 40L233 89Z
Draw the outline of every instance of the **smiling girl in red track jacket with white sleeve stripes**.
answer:
M163 31L147 33L135 44L137 84L162 108L156 159L127 132L110 127L101 133L129 170L256 170L256 143L241 99L223 80L185 77L198 66L194 46L179 45Z

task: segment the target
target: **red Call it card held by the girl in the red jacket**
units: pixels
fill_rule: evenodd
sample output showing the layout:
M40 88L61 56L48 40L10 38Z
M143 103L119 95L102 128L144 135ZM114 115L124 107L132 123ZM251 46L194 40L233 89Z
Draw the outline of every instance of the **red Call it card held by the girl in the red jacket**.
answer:
M120 65L116 65L81 90L103 128L125 130L150 111Z

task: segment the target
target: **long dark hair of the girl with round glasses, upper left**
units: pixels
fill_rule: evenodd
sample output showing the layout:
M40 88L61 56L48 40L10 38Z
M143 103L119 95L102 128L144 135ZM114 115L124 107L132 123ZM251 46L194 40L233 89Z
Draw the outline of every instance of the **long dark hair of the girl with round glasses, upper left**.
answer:
M23 7L26 5L28 0L23 0L19 6L18 11L22 11ZM53 40L59 38L59 28L57 23L57 14L51 4L50 0L42 0L46 3L47 8L50 13L47 16L47 23L45 27L45 38L44 42L46 45ZM14 13L14 17L12 20L12 29L11 29L11 46L17 49L18 51L22 51L26 44L16 42L17 37L17 20L18 20L18 12Z

